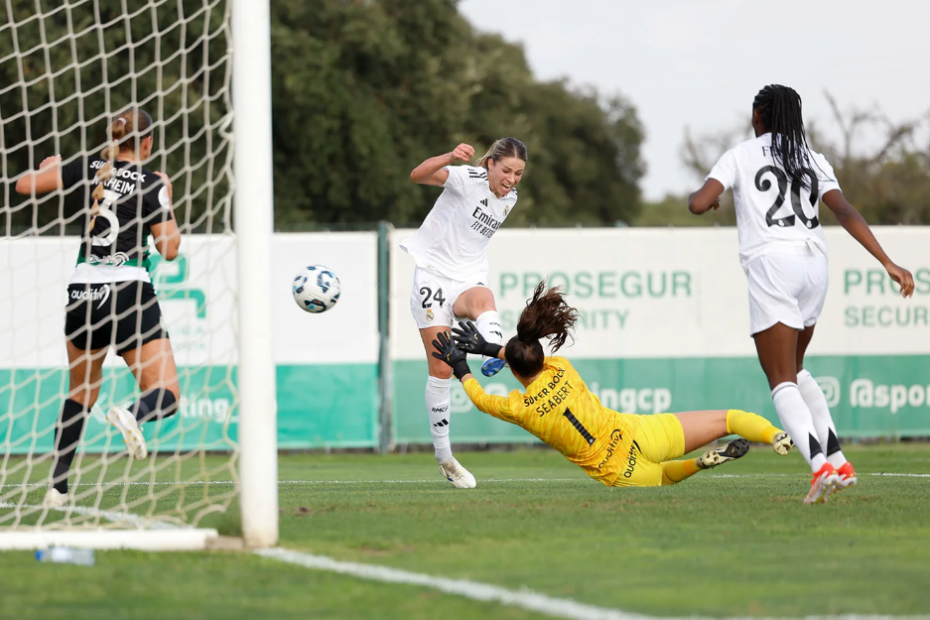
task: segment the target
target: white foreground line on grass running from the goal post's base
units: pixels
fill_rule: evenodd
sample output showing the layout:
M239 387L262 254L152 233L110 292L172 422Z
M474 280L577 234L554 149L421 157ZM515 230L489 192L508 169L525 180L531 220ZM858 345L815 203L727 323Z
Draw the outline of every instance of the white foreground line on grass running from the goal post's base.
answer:
M676 620L674 618L658 618L655 616L646 616L634 614L619 609L610 609L607 607L596 607L579 603L572 599L555 598L539 594L532 590L521 588L520 590L508 590L500 586L481 583L478 581L469 581L466 579L448 579L446 577L435 577L424 573L414 573L411 571L387 566L377 566L373 564L359 564L356 562L342 562L321 555L312 555L300 551L291 551L290 549L259 549L254 551L255 555L265 558L271 558L288 564L296 564L313 570L322 570L342 575L350 575L369 581L380 581L383 583L402 583L424 588L432 588L446 594L463 596L475 601L487 601L491 603L500 603L512 607L519 607L527 611L535 611L554 618L569 618L570 620ZM910 616L909 618L925 618L926 616ZM842 616L808 616L806 620L823 618L830 620L902 620L908 616L867 616L867 615L842 615ZM699 616L689 616L678 620L701 620ZM742 620L732 618L730 620ZM748 619L746 619L748 620ZM753 620L759 620L758 618ZM783 620L783 619L782 619Z

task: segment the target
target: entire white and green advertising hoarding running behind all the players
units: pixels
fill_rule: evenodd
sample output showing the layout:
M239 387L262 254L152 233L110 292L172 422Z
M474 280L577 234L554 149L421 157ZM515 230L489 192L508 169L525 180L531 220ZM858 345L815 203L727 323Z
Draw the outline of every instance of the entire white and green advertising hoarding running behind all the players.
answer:
M396 249L410 232L389 235L389 273L380 279L376 233L275 235L272 335L282 449L431 441L426 360L411 315L411 307L422 310L422 300L411 305L413 261ZM826 230L831 284L807 366L841 436L928 436L930 228L877 228L876 235L911 268L914 297L902 299L845 232ZM76 244L75 238L0 241L0 272L8 275L0 284L2 453L52 445L68 390L63 307ZM563 287L580 318L575 340L561 354L610 408L738 407L775 420L748 333L737 254L733 229L501 230L491 244L487 283L508 334L541 279ZM325 264L340 276L342 296L330 312L311 315L293 302L293 273L308 264ZM162 451L229 449L238 415L234 238L193 235L178 260L153 264L152 277L181 369L182 400L179 414L147 428L146 438ZM389 295L379 293L379 282L389 282ZM386 330L379 323L382 304ZM382 368L390 371L388 382ZM104 423L106 408L136 396L112 353L104 377L84 450L114 449L119 438ZM518 387L507 371L480 380L494 394ZM384 403L391 424L382 436ZM458 385L452 413L455 442L534 441L475 411Z

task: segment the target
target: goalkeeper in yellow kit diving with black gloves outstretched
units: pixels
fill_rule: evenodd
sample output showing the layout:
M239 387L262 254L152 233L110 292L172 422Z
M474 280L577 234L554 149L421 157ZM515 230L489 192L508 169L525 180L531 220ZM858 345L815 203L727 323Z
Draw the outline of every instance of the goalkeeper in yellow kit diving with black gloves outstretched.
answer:
M439 334L433 355L452 367L478 409L525 428L607 486L675 484L740 458L750 441L769 443L779 454L791 449L787 433L754 413L731 409L635 415L602 406L571 363L564 357L546 357L540 343L550 338L552 351L558 351L576 318L559 289L546 290L542 282L506 347L486 342L471 322L463 322L453 330L454 339ZM525 391L487 394L472 376L466 353L505 360ZM743 439L696 459L675 460L731 434Z

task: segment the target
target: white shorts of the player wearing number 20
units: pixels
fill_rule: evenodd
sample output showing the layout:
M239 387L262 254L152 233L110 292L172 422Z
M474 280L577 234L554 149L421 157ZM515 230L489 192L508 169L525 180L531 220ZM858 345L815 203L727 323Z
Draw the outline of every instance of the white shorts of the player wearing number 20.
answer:
M807 246L763 254L746 267L749 335L776 323L802 330L817 322L827 296L827 257Z

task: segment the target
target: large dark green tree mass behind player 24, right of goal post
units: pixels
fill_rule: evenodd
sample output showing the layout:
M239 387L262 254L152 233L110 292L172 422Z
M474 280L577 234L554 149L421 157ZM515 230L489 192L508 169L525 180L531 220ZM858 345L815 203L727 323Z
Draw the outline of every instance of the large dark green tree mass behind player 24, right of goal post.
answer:
M643 128L621 96L536 80L454 0L272 2L275 216L416 224L422 160L506 136L528 149L508 225L613 224L640 206Z

